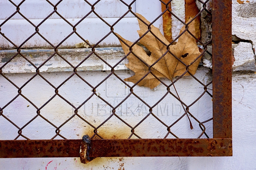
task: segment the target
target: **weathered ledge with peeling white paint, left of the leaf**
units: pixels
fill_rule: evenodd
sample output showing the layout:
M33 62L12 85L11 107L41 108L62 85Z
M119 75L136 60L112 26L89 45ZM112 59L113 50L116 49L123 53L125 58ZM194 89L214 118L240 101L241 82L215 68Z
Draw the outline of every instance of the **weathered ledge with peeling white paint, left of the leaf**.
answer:
M91 49L60 49L58 53L62 55L73 66L77 66L85 57L90 55ZM108 48L96 48L95 52L111 66L118 63L123 57L124 52L122 47L108 47ZM17 53L16 50L3 50L0 51L0 66L3 66L8 62L11 57ZM28 58L36 67L39 67L44 61L46 61L54 50L36 49L36 50L21 50L21 53ZM124 63L128 63L125 59L115 70L127 69ZM77 70L111 70L111 67L107 66L100 58L92 54L84 63L82 63ZM73 68L65 62L59 55L54 55L48 62L46 62L41 68L40 72L68 72L73 71ZM21 55L17 55L11 60L3 69L3 73L33 73L36 72L36 68L26 61Z

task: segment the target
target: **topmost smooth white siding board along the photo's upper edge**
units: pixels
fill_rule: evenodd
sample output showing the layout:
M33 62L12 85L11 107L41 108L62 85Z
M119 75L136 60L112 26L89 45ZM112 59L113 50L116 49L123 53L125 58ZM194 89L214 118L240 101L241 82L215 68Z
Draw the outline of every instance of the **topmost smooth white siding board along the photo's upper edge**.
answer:
M14 2L16 5L20 3L18 0ZM50 2L55 5L58 0L50 0ZM89 2L90 4L94 4L96 1L89 0ZM124 0L124 2L130 4L132 0ZM136 2L132 5L134 12L136 12L135 3ZM0 6L0 19L8 18L16 11L16 7L7 0L2 0ZM26 0L20 6L20 12L28 19L44 19L53 11L53 6L46 0ZM91 6L84 0L63 0L57 6L57 12L64 18L82 18L90 11ZM128 7L119 0L101 0L95 5L95 12L103 18L121 17L126 11L128 11ZM132 13L128 13L126 17L134 16ZM50 18L60 18L60 16L54 13ZM91 13L87 18L97 18L97 16L94 13ZM17 14L12 17L12 19L23 18Z

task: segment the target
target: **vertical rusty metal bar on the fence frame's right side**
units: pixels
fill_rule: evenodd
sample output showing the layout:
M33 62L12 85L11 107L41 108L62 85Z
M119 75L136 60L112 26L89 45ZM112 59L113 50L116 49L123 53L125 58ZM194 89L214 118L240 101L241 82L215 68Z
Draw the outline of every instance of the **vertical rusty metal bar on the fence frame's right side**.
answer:
M214 138L232 138L231 5L212 0Z

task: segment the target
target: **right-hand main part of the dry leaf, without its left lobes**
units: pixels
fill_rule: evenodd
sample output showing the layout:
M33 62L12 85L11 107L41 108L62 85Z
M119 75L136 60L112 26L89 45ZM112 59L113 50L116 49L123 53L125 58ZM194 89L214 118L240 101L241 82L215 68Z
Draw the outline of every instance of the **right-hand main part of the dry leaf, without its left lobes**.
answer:
M150 24L142 15L136 13L144 22ZM190 20L191 21L191 18ZM188 21L188 22L189 22ZM138 30L139 36L142 36L146 31L148 31L148 26L144 24L140 19L138 19L140 30ZM180 34L185 30L185 26L181 28ZM188 30L195 35L196 31L194 28L194 21L188 26ZM155 36L157 36L164 44L169 45L169 42L161 34L160 30L153 25L151 26L151 31ZM151 60L148 64L153 64L159 57L161 57L166 52L166 45L159 41L153 34L148 32L142 39L140 43L143 44L149 51L151 51ZM192 63L200 54L196 40L187 31L183 33L178 39L177 44L170 46L170 51L182 60L186 65ZM198 58L190 67L189 71L191 74L195 74L198 64L202 57ZM166 68L167 67L167 68ZM165 75L168 79L172 80L173 77L182 75L186 71L186 66L179 62L170 53L167 53L155 66L153 66L160 73ZM190 75L186 73L185 75Z

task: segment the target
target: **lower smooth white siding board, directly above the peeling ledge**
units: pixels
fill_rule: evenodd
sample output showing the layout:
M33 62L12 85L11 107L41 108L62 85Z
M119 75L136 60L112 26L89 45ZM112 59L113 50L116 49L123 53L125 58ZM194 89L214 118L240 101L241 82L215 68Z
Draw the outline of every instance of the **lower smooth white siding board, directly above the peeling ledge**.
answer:
M106 22L113 24L118 18L104 18ZM76 24L80 21L78 18L67 19L71 24ZM34 24L39 24L42 19L31 19ZM0 21L0 23L3 20ZM114 26L114 32L123 36L129 41L135 41L139 38L137 30L139 29L137 18L123 18ZM11 31L10 31L11 30ZM107 26L99 18L85 18L77 27L76 31L85 39L89 40L91 44L96 44L105 35L110 32L110 27ZM5 34L16 45L22 44L30 35L35 32L35 28L23 19L12 19L7 21L2 27L1 32ZM73 28L63 19L47 19L41 26L39 26L39 33L41 33L53 45L58 45L66 38ZM61 46L75 46L76 43L83 42L77 35L71 35ZM5 38L0 35L0 46L13 47ZM113 34L100 42L100 45L116 45L120 44L118 38ZM39 35L34 35L23 48L32 47L49 47L50 45L42 39Z

